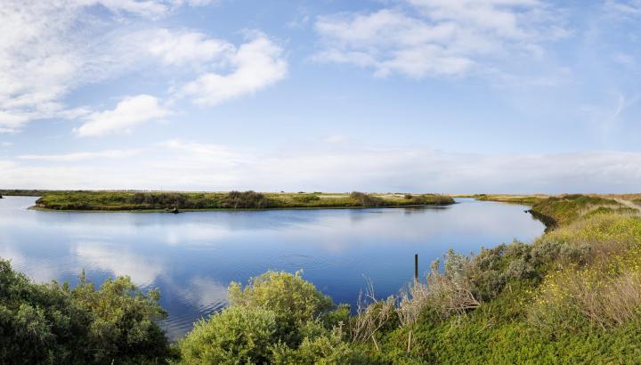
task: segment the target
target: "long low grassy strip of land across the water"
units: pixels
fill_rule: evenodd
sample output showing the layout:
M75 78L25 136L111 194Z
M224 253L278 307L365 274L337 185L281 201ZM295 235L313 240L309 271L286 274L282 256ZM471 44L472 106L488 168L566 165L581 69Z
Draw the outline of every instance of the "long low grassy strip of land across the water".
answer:
M453 204L439 194L42 191L39 208L53 210L158 211L208 209L413 207Z

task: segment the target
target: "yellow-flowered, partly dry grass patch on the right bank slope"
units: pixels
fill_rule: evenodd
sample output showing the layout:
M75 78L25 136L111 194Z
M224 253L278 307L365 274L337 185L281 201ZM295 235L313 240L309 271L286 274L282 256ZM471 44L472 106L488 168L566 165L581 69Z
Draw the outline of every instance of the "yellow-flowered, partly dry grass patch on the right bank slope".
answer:
M581 247L580 260L557 259L529 311L532 324L548 331L576 330L586 323L612 328L641 310L641 219L595 215L540 239Z

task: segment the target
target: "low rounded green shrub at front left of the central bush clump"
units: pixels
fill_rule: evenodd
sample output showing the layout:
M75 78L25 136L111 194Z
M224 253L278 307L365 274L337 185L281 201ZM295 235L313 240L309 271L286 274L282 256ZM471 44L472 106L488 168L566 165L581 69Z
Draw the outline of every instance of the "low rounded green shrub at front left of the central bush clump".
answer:
M232 306L199 320L180 342L185 364L270 363L278 342L276 314Z

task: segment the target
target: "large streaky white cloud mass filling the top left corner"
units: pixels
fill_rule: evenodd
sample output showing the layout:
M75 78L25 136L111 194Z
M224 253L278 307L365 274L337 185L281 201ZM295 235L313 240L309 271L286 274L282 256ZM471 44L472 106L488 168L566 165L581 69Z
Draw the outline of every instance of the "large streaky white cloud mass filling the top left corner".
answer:
M140 39L123 34L121 29L127 27L122 21L96 15L96 7L120 19L158 18L183 4L213 3L4 0L0 12L0 133L19 131L36 119L77 118L63 102L72 90L147 60L141 60L138 53L144 45L132 44Z

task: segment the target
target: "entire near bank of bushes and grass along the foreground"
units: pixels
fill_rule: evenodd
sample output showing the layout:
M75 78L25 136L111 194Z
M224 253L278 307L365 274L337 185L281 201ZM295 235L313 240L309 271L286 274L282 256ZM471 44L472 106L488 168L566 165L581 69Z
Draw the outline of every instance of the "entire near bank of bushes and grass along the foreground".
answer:
M230 307L174 344L158 335L156 292L36 285L0 263L0 362L637 363L637 199L537 199L532 213L554 223L539 239L450 251L398 295L364 293L356 315L301 273L231 283Z

